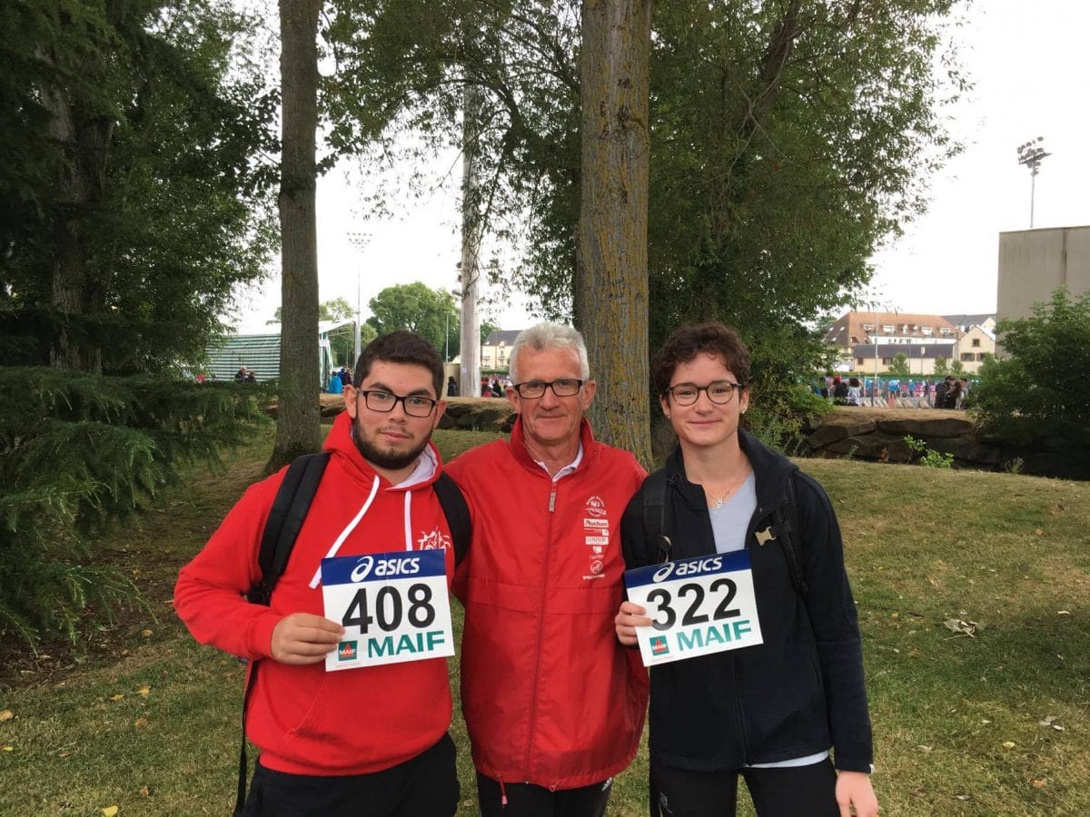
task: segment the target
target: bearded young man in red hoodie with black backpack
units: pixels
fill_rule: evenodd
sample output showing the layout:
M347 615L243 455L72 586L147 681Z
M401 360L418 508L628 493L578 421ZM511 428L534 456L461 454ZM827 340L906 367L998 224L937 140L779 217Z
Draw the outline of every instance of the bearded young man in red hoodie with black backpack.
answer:
M339 659L338 645L354 636L325 618L319 572L334 556L443 548L439 583L449 585L451 533L433 489L441 462L429 442L446 408L443 381L438 353L417 334L393 332L364 350L268 606L245 594L261 577L262 534L284 471L251 486L179 575L174 607L194 637L250 659L252 672L261 664L246 707L261 756L243 814L448 817L458 806L446 659L328 671L327 654ZM403 599L405 609L412 601ZM379 607L373 596L371 613L383 618Z

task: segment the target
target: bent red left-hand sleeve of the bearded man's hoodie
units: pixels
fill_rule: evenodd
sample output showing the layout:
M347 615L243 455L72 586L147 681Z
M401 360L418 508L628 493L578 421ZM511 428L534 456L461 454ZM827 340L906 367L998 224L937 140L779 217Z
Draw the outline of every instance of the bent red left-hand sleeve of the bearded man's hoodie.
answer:
M182 568L174 609L193 637L242 658L269 657L279 613L246 600L257 582L262 532L282 475L252 485L208 544Z

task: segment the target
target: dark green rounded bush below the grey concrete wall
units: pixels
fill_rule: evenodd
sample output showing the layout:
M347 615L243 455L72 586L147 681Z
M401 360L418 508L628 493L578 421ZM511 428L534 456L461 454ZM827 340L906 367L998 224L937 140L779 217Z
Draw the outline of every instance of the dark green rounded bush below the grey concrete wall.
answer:
M1090 475L1090 293L1058 289L997 331L1004 356L984 361L972 390L982 436L1054 474Z

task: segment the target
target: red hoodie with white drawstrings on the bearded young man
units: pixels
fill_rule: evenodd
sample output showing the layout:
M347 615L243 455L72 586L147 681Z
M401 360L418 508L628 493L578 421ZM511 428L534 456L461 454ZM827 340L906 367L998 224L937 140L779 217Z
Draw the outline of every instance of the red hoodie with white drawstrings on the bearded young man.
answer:
M378 476L349 436L341 414L326 440L332 453L269 607L241 594L257 581L265 520L284 472L250 487L174 588L174 608L202 644L251 659L269 659L272 627L292 612L323 614L322 586L310 587L319 561L377 491L339 556L446 547L450 531L432 490L438 474L405 488ZM438 452L431 449L439 464ZM251 693L247 734L262 765L293 775L365 775L403 763L435 744L450 725L447 661L422 661L326 672L262 662Z

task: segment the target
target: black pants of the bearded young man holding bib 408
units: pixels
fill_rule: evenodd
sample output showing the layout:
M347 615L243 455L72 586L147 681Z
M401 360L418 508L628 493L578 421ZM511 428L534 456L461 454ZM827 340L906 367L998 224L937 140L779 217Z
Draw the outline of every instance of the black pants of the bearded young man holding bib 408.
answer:
M246 817L451 817L458 808L455 742L450 735L409 760L372 775L288 775L262 766L242 814Z

